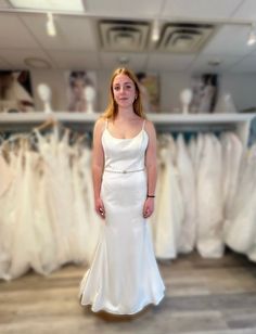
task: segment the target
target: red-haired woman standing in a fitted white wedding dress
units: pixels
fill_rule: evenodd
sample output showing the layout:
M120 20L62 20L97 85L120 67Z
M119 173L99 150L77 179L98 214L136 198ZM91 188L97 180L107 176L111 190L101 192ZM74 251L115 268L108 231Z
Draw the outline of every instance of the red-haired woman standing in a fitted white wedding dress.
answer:
M156 183L156 136L145 120L135 75L117 68L110 105L93 133L92 174L102 234L80 284L92 311L132 314L164 297L150 227Z

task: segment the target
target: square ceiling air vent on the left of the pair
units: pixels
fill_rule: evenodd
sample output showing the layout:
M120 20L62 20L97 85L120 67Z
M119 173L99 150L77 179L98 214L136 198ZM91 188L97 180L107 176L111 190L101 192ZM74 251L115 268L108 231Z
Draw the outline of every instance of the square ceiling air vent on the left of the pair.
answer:
M143 51L150 25L145 22L101 21L102 48L106 51Z

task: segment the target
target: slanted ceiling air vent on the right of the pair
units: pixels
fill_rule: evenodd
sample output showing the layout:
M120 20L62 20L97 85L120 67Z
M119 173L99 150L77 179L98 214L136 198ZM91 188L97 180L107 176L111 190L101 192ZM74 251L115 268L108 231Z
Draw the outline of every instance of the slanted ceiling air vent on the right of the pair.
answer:
M158 50L174 53L197 52L213 31L213 25L167 24L163 29Z

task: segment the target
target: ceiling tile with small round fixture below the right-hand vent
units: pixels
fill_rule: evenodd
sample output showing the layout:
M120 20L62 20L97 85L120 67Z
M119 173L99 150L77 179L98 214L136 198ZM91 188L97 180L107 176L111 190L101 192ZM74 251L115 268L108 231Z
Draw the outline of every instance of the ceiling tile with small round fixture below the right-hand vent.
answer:
M235 64L241 56L232 54L201 54L191 64L190 70L196 73L222 73ZM209 62L220 62L219 65L209 65Z

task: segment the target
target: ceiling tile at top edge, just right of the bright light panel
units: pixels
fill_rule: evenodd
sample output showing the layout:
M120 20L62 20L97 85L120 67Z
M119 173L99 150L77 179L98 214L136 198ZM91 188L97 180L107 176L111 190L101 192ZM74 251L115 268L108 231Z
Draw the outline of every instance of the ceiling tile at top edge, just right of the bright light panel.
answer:
M86 11L95 15L104 16L141 16L157 15L164 0L158 1L127 1L127 0L87 0Z

